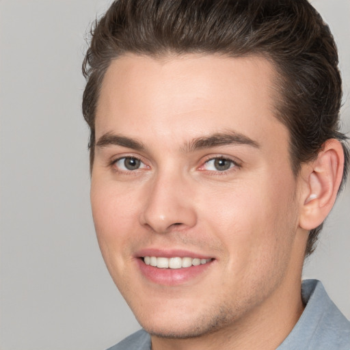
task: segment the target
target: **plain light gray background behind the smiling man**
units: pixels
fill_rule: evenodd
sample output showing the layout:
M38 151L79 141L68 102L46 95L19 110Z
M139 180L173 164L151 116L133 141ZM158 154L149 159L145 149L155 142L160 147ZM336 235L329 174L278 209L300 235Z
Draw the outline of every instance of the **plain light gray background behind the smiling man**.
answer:
M109 278L89 203L84 33L111 1L0 0L0 349L105 349L138 328ZM350 131L349 0L314 0L340 49ZM350 318L350 184L304 276Z

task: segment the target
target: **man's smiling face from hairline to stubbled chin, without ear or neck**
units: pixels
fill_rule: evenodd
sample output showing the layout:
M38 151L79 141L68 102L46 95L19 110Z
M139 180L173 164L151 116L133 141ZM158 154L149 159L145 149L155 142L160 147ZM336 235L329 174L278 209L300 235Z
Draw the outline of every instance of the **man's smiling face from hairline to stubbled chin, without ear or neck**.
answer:
M153 334L271 317L300 279L298 183L273 77L265 59L214 55L125 55L106 72L94 224L114 282Z

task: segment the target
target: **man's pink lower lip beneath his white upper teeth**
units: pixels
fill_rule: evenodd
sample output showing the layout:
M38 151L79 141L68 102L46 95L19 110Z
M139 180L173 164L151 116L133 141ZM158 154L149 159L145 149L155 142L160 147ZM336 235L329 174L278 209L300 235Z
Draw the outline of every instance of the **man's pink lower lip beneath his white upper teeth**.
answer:
M137 258L137 264L142 274L151 282L163 284L164 286L176 286L198 278L208 267L211 267L213 260L206 262L206 264L183 267L181 269L159 269L158 267L146 265L141 258Z

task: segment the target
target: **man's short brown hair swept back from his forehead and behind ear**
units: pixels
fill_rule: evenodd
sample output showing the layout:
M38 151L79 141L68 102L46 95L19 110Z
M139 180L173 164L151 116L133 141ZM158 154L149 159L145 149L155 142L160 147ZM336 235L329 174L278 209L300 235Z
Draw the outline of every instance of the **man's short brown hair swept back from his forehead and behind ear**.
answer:
M83 116L90 126L94 161L94 119L103 77L124 53L159 57L168 53L262 55L278 72L276 118L290 133L291 165L298 174L327 139L338 139L342 97L338 53L329 27L307 0L116 0L96 21L83 62L87 84ZM313 252L322 225L310 231Z

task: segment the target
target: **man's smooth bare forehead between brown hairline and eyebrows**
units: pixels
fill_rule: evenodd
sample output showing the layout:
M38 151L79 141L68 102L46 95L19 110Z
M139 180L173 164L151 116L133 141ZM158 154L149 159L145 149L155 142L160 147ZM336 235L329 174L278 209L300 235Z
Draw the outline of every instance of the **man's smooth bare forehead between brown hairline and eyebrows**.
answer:
M118 131L178 141L233 129L259 142L284 129L273 116L275 75L262 57L124 55L105 73L96 139Z

